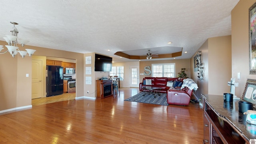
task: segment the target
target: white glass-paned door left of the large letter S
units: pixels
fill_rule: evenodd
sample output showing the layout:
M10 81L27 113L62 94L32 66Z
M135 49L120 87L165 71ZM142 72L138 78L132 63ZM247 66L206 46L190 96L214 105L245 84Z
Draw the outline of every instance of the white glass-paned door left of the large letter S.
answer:
M140 73L139 66L130 66L130 87L139 87Z

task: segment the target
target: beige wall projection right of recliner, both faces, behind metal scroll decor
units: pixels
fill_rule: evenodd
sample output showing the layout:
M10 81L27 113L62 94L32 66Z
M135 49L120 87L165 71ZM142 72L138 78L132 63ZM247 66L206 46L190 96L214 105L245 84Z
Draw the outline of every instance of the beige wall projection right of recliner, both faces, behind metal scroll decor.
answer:
M208 38L198 50L202 51L204 79L198 80L198 72L191 70L192 78L198 84L198 90L194 94L201 98L201 94L222 95L230 92L228 81L231 78L231 36ZM190 59L191 66L194 66L194 56Z

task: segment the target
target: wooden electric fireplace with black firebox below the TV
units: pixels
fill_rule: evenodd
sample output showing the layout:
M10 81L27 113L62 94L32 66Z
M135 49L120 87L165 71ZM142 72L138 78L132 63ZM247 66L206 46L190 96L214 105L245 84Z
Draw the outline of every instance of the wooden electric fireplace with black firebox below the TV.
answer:
M112 80L96 80L97 98L113 96Z

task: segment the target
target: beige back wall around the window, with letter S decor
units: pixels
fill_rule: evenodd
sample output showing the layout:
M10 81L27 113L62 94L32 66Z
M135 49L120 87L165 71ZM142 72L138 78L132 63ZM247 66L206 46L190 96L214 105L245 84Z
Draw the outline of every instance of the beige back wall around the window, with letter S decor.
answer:
M185 72L189 78L190 76L190 59L174 59L174 60L146 60L140 61L140 74L144 74L144 67L150 66L150 70L152 70L152 64L166 64L166 63L175 63L175 77L178 76L178 72L181 71L181 68L186 68L187 71ZM148 73L148 72L146 72ZM140 82L144 77L151 77L150 75L140 75Z

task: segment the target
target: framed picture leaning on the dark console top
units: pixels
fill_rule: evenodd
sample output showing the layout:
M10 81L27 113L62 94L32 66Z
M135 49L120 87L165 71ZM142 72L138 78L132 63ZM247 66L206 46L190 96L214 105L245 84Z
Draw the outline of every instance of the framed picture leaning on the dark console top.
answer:
M255 108L255 105L256 105L256 80L247 79L241 99L246 102L252 103Z

